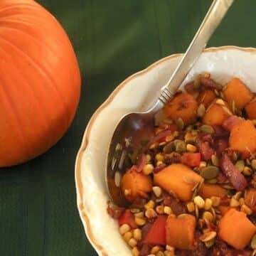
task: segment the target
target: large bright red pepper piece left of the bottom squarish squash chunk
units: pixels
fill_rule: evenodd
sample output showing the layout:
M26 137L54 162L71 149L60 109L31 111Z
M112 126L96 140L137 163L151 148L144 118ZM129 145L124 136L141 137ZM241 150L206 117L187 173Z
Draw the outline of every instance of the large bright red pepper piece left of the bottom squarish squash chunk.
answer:
M146 234L143 243L149 245L166 245L166 220L166 215L159 215Z

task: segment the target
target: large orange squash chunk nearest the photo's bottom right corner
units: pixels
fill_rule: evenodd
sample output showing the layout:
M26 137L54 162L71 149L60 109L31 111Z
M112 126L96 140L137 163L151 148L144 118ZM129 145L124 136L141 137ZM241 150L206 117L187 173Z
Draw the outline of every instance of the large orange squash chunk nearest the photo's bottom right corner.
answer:
M218 236L237 250L243 250L256 232L256 227L242 211L231 208L218 225Z

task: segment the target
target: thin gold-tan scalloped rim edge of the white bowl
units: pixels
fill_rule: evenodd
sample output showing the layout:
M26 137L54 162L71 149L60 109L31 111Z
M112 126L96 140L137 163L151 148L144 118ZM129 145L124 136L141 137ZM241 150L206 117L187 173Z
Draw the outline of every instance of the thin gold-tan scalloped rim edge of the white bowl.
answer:
M211 48L206 48L203 50L203 53L209 53L209 52L214 52L214 51L220 51L220 50L240 50L242 52L256 52L256 48L252 47L239 47L239 46L220 46L220 47L211 47ZM121 82L117 87L113 90L113 92L110 94L109 97L107 97L107 100L100 105L100 107L97 108L97 110L92 114L92 117L90 118L89 122L87 123L87 127L85 129L85 132L82 137L82 143L80 145L80 149L78 150L78 154L75 159L75 190L77 194L77 207L78 207L78 212L80 215L80 219L82 221L82 225L85 229L85 234L87 235L87 239L90 241L92 247L96 250L98 255L101 256L108 256L107 252L105 251L104 247L100 245L99 242L97 242L97 238L92 233L92 226L90 225L90 220L87 217L87 213L85 210L85 205L82 202L83 195L85 194L84 189L82 188L82 181L80 179L80 174L81 174L81 160L82 160L82 155L87 148L87 145L89 144L90 140L90 131L92 129L92 126L95 122L95 119L97 119L97 116L104 110L106 107L110 105L112 100L114 100L114 97L118 94L122 88L127 85L127 82L130 80L139 77L140 75L144 75L145 73L148 73L150 70L156 68L157 65L163 63L166 60L170 60L173 58L178 58L183 53L174 53L172 55L166 56L164 58L161 58L160 60L157 60L156 62L152 63L149 65L147 68L144 70L140 70L137 73L134 73L133 75L130 75L128 78L126 78L123 82Z

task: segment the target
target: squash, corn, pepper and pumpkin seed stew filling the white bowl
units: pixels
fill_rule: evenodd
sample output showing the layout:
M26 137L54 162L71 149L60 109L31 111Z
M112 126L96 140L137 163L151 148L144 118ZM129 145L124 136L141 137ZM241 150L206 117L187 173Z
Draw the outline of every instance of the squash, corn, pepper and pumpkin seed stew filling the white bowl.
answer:
M107 208L132 255L256 255L255 94L204 73L155 121L129 146L129 206Z

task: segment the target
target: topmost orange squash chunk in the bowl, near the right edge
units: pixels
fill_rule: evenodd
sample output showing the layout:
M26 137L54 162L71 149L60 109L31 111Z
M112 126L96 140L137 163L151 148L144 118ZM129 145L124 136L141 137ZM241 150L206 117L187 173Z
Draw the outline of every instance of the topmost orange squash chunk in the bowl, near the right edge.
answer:
M223 90L223 94L230 106L233 101L235 102L235 107L237 107L238 110L242 110L253 97L252 92L239 78L233 78L228 82Z

